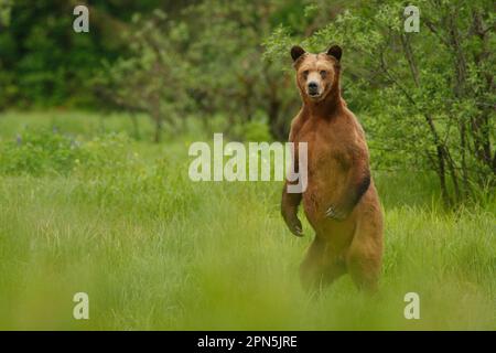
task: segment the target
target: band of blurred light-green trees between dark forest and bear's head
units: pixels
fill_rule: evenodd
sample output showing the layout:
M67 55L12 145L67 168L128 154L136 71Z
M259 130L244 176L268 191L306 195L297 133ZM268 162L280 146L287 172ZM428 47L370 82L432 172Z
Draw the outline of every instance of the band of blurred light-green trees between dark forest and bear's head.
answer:
M147 111L158 131L162 120L179 130L182 116L201 111L204 120L226 117L223 130L231 136L238 125L261 119L273 138L285 139L298 100L291 78L262 60L261 42L276 19L293 23L303 8L299 1L205 0L177 18L136 17L130 55L109 64L98 84L121 108Z

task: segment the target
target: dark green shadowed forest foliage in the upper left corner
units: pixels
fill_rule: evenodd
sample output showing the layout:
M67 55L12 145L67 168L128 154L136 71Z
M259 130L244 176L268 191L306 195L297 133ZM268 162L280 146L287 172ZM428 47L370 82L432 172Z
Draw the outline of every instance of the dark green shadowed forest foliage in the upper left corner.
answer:
M11 3L11 8L6 8ZM163 3L148 0L121 6L112 1L89 4L89 33L75 33L71 1L2 1L0 7L0 107L95 107L100 105L89 85L103 61L126 53L120 33L134 12L150 13L164 7L171 13L188 1ZM1 25L10 13L7 29ZM7 92L3 92L7 87ZM104 104L104 107L106 105Z

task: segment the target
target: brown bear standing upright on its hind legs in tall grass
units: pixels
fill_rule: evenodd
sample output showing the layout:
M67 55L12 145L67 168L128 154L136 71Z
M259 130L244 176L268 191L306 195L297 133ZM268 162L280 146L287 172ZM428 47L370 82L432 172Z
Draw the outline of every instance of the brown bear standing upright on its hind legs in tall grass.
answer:
M315 238L301 264L305 288L320 288L348 272L360 289L374 291L382 257L382 212L370 176L365 133L341 97L342 49L306 53L291 49L302 108L291 124L290 142L308 147L308 186L281 202L290 231L302 235L298 206L303 207Z

